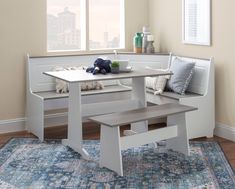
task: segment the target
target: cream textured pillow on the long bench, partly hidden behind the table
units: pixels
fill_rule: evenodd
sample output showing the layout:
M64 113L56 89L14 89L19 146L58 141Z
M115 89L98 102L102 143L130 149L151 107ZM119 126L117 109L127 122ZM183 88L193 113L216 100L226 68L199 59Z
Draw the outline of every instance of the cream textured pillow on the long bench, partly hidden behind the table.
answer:
M86 67L55 67L53 71L65 71L65 70L86 70ZM69 92L68 83L62 81L60 79L56 79L56 92L57 93L67 93ZM88 91L88 90L101 90L104 88L104 85L101 81L89 81L89 82L82 82L81 83L81 90Z

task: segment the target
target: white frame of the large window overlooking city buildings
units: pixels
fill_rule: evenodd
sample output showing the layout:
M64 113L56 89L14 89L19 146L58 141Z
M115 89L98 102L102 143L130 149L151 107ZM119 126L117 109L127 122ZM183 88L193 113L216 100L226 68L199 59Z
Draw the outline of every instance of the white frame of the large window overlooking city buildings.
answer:
M79 0L78 0L79 1ZM48 50L48 53L60 52L94 52L94 51L113 51L125 49L125 0L120 0L120 46L117 48L90 49L89 47L89 0L81 2L81 49L71 50Z

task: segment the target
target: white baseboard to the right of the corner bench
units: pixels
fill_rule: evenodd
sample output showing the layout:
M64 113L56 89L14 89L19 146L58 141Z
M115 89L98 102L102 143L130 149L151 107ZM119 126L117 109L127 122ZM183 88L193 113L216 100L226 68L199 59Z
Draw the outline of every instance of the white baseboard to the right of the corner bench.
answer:
M231 127L226 124L217 122L215 124L214 135L235 142L235 127Z

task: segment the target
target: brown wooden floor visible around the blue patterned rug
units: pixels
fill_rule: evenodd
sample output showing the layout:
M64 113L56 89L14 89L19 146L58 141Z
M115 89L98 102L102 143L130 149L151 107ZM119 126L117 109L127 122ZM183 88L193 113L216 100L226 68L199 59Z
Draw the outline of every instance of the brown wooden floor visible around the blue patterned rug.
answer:
M158 124L158 125L151 125L150 129L155 129L159 127L163 127L164 125ZM122 128L128 129L129 127L126 126ZM99 139L100 135L99 132L100 127L94 123L86 123L83 126L83 138L84 139ZM0 134L0 147L7 143L7 141L14 137L35 137L31 133L28 133L26 131L22 132L16 132L16 133L8 133L8 134ZM47 139L62 139L67 137L67 126L57 126L57 127L50 127L45 129L45 138ZM36 138L36 137L35 137ZM235 170L235 142L219 138L219 137L213 137L210 139L207 138L198 138L194 139L196 141L217 141L222 150L225 153L225 156L227 157L229 163Z

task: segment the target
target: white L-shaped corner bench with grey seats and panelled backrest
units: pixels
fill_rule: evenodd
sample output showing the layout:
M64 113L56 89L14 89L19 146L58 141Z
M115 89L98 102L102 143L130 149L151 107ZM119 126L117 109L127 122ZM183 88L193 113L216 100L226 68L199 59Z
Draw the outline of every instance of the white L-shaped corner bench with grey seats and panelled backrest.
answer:
M100 56L111 60L129 60L134 68L151 67L167 68L169 54L133 54L120 53L86 54L70 56L41 56L27 57L27 105L26 128L40 140L44 140L45 111L68 107L68 93L58 94L55 91L55 80L43 74L52 71L56 66L89 66ZM174 56L173 56L174 58ZM170 59L171 60L171 59ZM191 60L191 59L190 59ZM210 60L193 59L196 62L196 71L189 85L189 92L184 96L173 92L164 92L154 95L147 92L147 101L153 104L180 103L197 107L198 110L186 113L189 138L212 136L214 129L214 65ZM128 86L130 85L130 86ZM82 92L82 116L111 113L110 107L100 107L104 101L128 100L130 98L131 82L105 81L104 89ZM133 109L133 107L113 107L113 112Z

